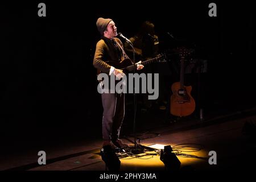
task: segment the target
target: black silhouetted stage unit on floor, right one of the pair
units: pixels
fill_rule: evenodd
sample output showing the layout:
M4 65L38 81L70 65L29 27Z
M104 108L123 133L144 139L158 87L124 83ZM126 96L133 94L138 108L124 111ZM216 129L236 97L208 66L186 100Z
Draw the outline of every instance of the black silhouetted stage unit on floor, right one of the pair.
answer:
M164 146L164 150L161 150L160 160L164 163L164 167L167 171L178 171L180 169L180 161L172 152L171 146Z

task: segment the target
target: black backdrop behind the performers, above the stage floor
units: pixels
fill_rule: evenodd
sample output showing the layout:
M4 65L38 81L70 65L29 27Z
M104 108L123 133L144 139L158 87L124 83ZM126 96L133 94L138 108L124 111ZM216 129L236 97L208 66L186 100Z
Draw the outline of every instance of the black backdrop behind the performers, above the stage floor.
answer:
M1 5L1 143L35 144L101 137L101 99L93 54L99 17L112 18L126 37L144 20L155 24L162 49L185 38L196 58L208 60L202 75L204 109L241 110L255 105L255 11L251 3L45 2ZM109 3L109 4L108 4ZM172 45L173 46L173 45Z

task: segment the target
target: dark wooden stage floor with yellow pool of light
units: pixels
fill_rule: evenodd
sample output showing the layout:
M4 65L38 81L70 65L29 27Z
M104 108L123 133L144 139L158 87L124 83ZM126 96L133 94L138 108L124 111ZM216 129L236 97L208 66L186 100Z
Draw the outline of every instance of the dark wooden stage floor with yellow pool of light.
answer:
M212 170L255 170L253 157L256 151L255 138L242 133L246 121L253 121L256 115L235 113L217 116L205 121L178 121L166 123L161 127L153 127L138 133L143 146L152 144L171 145L179 150L176 155L181 162L181 169L189 167L193 171ZM133 136L123 136L123 142L133 146L129 140ZM52 142L47 146L16 148L17 152L1 155L0 170L32 170L32 171L104 171L105 163L100 156L102 141L100 138L71 140L69 142ZM180 145L179 149L177 145ZM19 145L19 147L22 144ZM181 146L185 146L182 148ZM190 149L189 149L190 148ZM196 150L198 151L191 151ZM20 149L20 150L19 150ZM23 150L21 150L23 149ZM38 164L38 151L46 152L46 165ZM187 150L187 151L186 151ZM19 152L21 151L21 152ZM209 164L209 151L216 152L217 164ZM160 156L129 156L120 159L121 171L164 171ZM184 156L184 154L187 154ZM190 155L190 156L188 156ZM183 168L184 169L184 168Z

